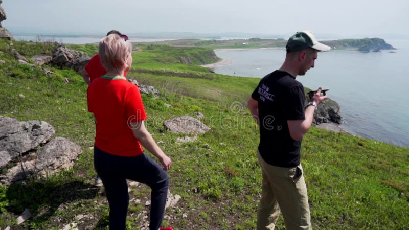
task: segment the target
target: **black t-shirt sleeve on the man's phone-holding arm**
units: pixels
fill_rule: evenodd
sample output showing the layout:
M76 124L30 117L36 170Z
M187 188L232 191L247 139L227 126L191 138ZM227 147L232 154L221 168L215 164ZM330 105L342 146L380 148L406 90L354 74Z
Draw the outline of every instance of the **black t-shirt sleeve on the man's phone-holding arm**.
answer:
M304 111L304 88L302 86L294 86L288 90L288 95L285 104L286 120L305 120Z

